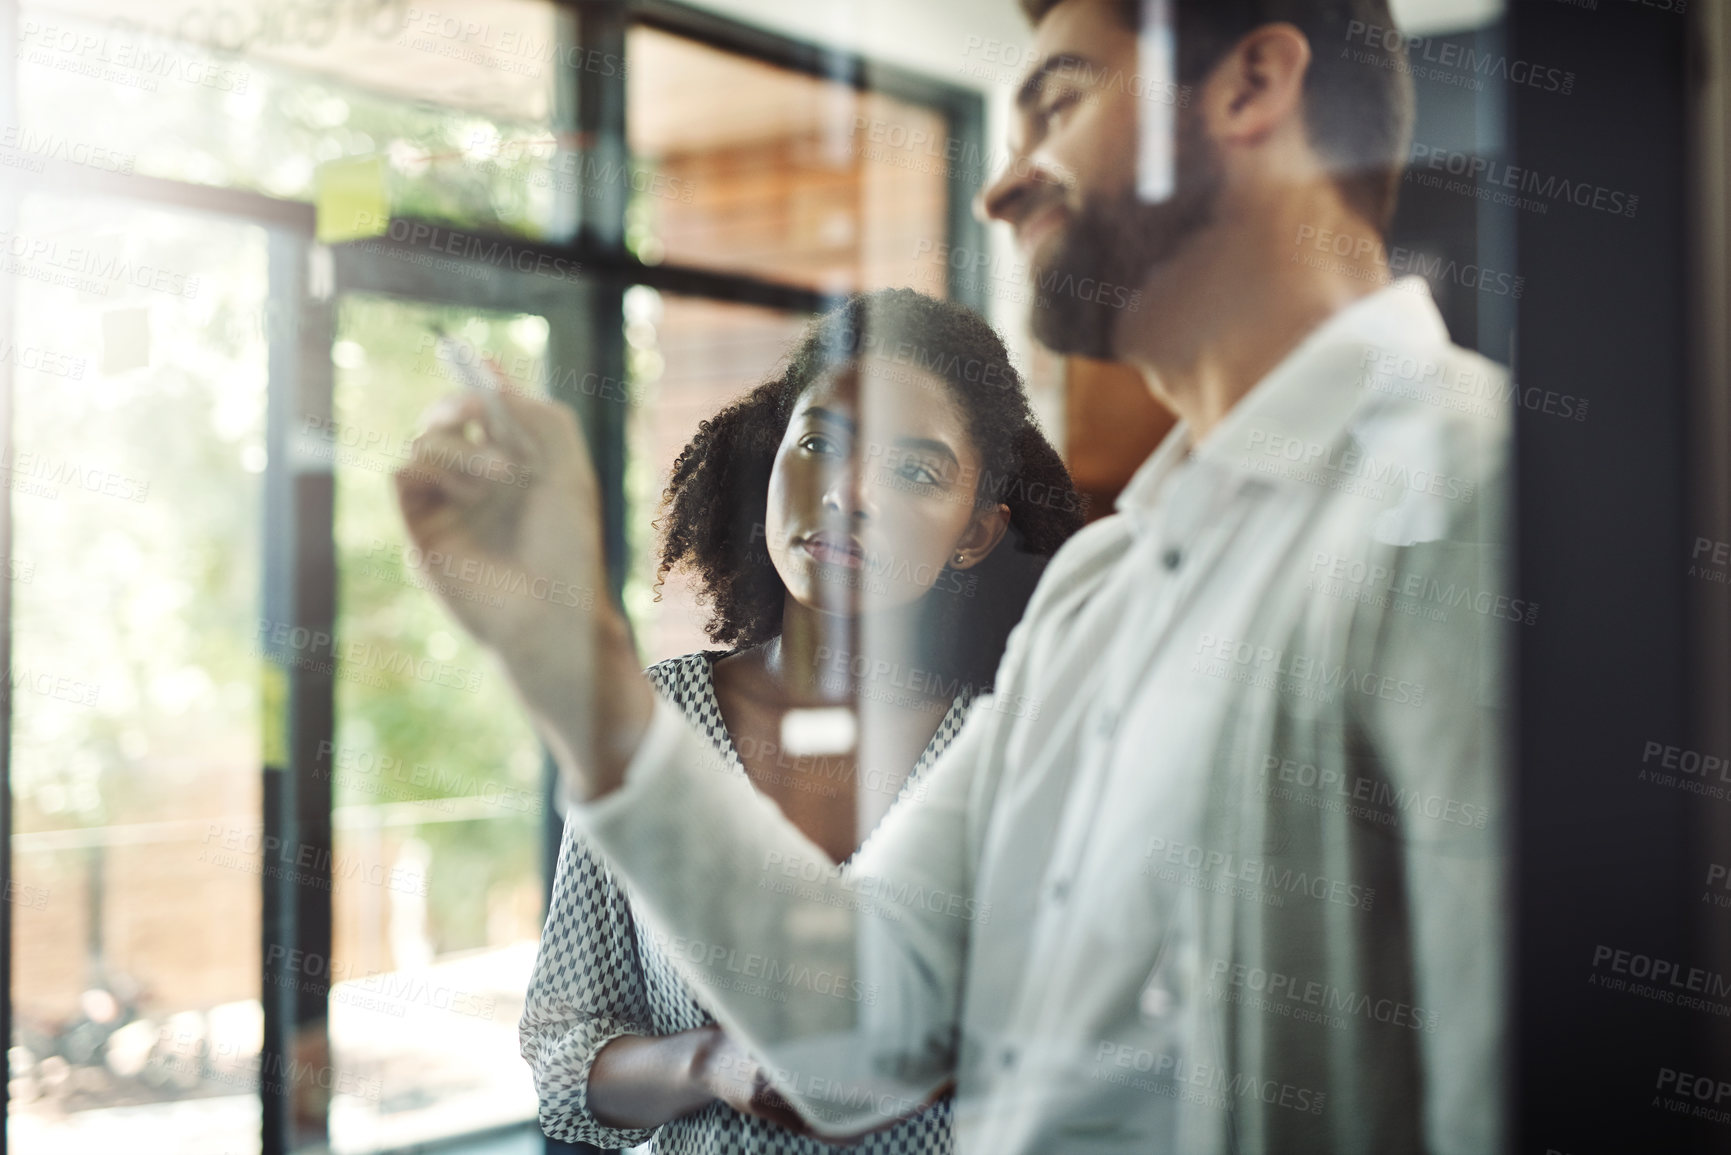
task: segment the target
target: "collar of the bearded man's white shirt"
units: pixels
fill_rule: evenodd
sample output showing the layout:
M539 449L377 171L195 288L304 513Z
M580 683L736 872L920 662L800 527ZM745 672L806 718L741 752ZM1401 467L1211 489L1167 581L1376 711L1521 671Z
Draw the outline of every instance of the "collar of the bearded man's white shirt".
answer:
M1272 438L1331 445L1362 400L1366 346L1414 350L1449 343L1449 329L1423 277L1400 277L1359 298L1310 331L1226 414L1194 450L1198 462L1250 473ZM1167 478L1191 455L1189 426L1177 426L1118 494L1120 513L1151 509ZM1264 474L1257 474L1264 476Z

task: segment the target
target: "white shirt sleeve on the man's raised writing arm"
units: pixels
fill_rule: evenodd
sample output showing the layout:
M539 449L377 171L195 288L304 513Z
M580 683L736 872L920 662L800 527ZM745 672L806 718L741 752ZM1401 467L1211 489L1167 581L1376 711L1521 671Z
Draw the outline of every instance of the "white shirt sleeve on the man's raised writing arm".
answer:
M971 890L968 807L995 717L975 707L846 871L666 703L625 784L573 807L646 928L820 1134L904 1115L954 1068L968 921L907 895Z

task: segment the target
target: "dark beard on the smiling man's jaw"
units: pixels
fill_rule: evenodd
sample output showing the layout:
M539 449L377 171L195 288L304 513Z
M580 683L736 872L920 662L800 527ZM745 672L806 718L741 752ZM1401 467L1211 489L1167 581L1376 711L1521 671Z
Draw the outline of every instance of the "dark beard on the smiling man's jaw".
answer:
M1052 236L1051 258L1033 275L1033 338L1054 353L1111 360L1115 326L1136 315L1148 274L1213 218L1220 165L1194 114L1181 114L1177 187L1144 204L1132 184L1084 201Z

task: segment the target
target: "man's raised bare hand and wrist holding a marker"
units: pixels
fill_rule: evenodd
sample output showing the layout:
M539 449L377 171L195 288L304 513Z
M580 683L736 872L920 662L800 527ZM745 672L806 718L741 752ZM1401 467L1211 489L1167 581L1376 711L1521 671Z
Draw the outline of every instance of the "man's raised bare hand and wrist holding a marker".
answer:
M426 412L396 499L421 570L504 661L578 798L615 788L653 691L608 592L601 495L576 417L511 393Z

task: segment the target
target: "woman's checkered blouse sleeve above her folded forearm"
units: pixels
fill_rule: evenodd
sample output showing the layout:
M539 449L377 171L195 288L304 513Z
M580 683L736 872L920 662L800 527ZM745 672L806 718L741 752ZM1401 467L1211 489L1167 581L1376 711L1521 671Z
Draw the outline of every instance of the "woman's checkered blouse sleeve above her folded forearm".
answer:
M654 1034L632 911L606 866L566 823L552 906L519 1023L542 1131L604 1150L637 1146L654 1134L608 1127L589 1108L595 1056L628 1034Z

